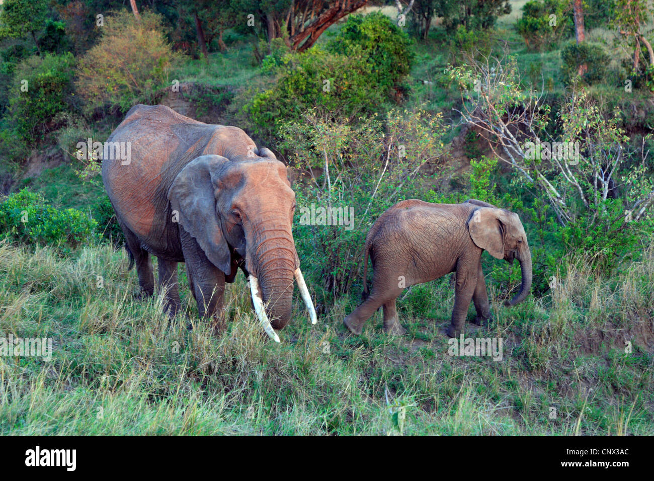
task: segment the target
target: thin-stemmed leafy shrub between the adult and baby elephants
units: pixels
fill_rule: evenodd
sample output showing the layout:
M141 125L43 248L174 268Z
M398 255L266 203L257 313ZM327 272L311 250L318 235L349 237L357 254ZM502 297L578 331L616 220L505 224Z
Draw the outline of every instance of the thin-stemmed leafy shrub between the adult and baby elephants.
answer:
M419 170L443 152L441 115L390 111L355 126L307 115L281 126L280 147L307 178L298 196L296 247L314 285L330 298L349 292L362 270L362 246L373 221L391 205L419 196ZM309 223L305 209L347 209L349 226ZM317 219L317 218L316 218Z

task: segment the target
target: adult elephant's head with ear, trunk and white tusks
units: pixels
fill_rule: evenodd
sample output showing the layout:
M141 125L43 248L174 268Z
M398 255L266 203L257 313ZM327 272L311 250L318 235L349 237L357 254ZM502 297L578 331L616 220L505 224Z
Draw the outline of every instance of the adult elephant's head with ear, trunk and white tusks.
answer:
M269 336L279 341L273 327L282 329L290 320L294 277L315 324L292 234L295 193L272 152L261 149L239 162L199 156L177 174L168 199L181 227L226 281L233 282L239 267L247 272L254 309Z

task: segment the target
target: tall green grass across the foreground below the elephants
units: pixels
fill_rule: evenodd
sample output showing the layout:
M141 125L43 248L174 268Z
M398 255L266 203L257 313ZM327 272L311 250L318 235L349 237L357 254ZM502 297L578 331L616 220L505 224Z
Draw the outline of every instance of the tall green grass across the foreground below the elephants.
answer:
M447 354L447 279L399 303L409 336L386 336L379 313L346 334L349 298L312 327L296 299L274 344L244 279L228 287L228 330L214 336L184 276L188 318L168 319L160 296L135 299L126 264L107 245L70 257L0 245L0 332L54 345L50 362L0 357L0 434L654 434L651 249L611 283L573 262L574 282L553 296L493 304L496 321L468 329L504 339L500 362Z

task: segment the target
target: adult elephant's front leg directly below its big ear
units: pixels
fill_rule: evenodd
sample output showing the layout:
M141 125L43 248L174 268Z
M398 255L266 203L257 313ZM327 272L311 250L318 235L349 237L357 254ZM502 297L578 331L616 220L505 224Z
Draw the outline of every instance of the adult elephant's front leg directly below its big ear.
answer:
M187 232L180 235L186 276L191 293L198 303L200 317L212 317L212 328L216 334L225 328L223 296L225 274L207 258L198 242Z

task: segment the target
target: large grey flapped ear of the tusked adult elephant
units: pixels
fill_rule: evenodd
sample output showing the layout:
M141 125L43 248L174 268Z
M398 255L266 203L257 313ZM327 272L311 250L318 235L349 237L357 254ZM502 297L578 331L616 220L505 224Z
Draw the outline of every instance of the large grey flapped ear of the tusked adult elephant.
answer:
M222 235L216 213L216 183L227 158L203 155L195 158L177 174L168 190L179 223L198 241L207 258L226 274L232 271L230 247Z

